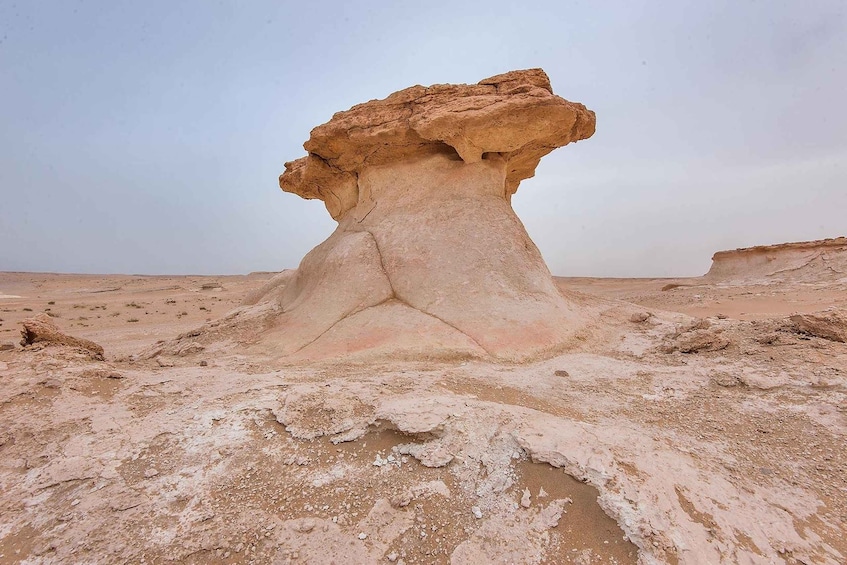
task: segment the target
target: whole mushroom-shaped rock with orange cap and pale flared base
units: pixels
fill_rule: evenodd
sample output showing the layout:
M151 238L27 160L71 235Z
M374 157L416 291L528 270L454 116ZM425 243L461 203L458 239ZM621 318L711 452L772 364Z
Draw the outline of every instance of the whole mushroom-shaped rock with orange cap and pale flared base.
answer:
M258 341L291 359L357 352L526 360L582 325L512 210L541 157L594 133L541 69L413 86L312 130L286 192L323 200L335 232L249 303Z

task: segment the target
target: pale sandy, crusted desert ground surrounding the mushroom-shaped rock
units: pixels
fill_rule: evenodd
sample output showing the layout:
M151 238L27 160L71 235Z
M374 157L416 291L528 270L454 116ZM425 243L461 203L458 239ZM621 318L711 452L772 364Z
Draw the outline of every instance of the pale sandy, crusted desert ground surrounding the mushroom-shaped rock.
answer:
M847 345L785 318L843 283L557 279L646 319L527 365L137 355L271 276L0 273L0 563L847 562Z

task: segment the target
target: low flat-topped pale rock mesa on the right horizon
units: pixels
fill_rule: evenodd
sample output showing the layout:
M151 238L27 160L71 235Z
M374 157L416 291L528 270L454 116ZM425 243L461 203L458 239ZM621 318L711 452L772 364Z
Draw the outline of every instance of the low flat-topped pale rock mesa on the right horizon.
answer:
M709 279L847 282L847 237L719 251Z

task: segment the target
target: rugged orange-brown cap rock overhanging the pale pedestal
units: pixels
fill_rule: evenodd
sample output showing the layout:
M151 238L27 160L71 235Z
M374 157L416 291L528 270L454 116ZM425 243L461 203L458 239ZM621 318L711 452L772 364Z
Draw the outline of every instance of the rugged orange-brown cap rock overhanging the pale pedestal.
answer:
M285 164L280 188L324 201L341 220L359 199L367 167L452 152L468 164L502 159L503 196L533 176L541 158L594 133L594 112L553 94L541 69L511 71L475 85L412 86L336 113L314 128L306 157Z

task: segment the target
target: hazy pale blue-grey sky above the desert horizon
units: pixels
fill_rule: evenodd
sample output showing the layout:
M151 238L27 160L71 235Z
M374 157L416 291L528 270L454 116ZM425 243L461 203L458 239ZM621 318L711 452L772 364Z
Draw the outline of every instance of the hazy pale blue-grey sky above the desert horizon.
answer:
M847 235L847 3L0 0L0 270L296 267L334 112L542 67L597 113L513 203L559 275Z

